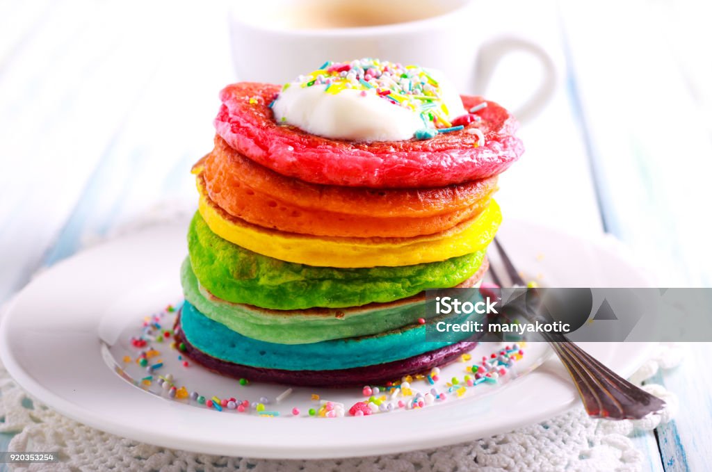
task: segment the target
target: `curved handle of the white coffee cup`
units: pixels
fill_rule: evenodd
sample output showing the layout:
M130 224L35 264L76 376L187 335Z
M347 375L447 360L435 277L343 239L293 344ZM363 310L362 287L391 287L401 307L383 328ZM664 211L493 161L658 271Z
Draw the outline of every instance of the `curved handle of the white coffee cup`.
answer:
M524 51L538 58L544 70L544 77L531 98L525 101L514 116L520 122L526 122L535 117L550 100L556 88L556 66L553 59L541 46L523 38L498 38L481 46L475 65L475 85L478 93L484 93L492 79L496 65L508 53Z

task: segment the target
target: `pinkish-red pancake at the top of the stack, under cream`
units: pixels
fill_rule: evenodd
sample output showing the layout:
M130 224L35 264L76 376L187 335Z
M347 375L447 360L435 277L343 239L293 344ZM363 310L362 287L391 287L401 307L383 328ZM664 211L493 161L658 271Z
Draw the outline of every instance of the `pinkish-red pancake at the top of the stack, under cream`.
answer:
M315 184L371 188L444 187L485 179L507 169L522 154L513 134L517 124L503 107L487 102L481 122L431 140L350 142L310 135L278 125L268 106L278 85L241 82L220 93L223 105L215 118L218 134L237 152L279 174ZM462 96L466 109L482 103ZM468 133L477 127L485 144Z

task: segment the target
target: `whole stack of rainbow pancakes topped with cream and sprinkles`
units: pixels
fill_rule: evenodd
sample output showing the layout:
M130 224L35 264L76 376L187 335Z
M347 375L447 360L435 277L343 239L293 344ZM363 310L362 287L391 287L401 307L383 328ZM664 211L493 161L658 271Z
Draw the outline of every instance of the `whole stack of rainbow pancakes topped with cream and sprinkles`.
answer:
M176 321L184 355L289 385L384 384L472 350L426 340L425 290L477 287L523 152L502 107L361 59L222 90Z

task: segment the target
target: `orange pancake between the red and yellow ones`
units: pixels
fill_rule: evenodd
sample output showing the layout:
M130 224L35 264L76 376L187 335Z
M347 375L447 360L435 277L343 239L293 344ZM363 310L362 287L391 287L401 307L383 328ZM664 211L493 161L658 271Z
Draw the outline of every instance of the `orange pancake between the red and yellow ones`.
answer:
M252 224L298 234L365 238L446 231L486 208L497 183L492 177L424 190L308 184L242 157L219 137L196 171L211 201Z

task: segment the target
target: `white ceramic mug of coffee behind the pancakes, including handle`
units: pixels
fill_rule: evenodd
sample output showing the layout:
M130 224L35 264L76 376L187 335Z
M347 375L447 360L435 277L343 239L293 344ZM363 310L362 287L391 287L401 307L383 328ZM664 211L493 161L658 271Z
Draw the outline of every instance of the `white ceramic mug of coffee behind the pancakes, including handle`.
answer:
M538 44L488 32L477 0L255 0L236 2L230 31L239 80L286 83L325 61L354 58L436 68L461 93L484 95L512 51L538 58L543 78L515 110L525 121L547 103L557 73Z

